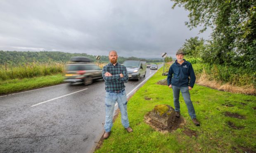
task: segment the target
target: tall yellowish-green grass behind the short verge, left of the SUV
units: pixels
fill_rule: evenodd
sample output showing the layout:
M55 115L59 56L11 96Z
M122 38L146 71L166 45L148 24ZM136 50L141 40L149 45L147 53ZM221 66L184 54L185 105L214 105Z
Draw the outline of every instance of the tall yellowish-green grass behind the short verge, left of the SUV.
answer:
M27 63L19 66L0 65L0 80L33 78L64 72L65 63Z

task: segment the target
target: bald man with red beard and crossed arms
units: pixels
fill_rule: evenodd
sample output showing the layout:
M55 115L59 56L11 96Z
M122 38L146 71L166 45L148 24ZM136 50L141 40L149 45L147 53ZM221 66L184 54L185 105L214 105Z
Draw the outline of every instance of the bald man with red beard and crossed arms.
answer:
M105 119L105 133L104 139L107 139L110 135L111 127L113 126L113 113L116 102L118 103L121 111L121 122L123 127L128 132L133 132L130 128L128 114L127 114L127 99L124 83L128 82L128 73L126 67L117 63L116 51L109 52L110 63L105 65L102 70L102 76L105 80L106 89L106 119Z

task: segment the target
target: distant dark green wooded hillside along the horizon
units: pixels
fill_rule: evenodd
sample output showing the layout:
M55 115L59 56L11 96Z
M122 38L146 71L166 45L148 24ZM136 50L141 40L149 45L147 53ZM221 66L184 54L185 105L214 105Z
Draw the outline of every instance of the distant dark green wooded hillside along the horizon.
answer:
M90 58L92 61L97 61L96 56L88 55L87 53L64 53L60 51L0 51L0 65L7 63L8 65L21 65L25 63L33 62L57 62L57 63L67 63L73 56L84 56ZM146 60L150 63L162 62L162 59L142 59L136 57L121 57L119 56L119 63L123 63L126 59L132 60ZM100 56L100 63L109 62L108 56Z

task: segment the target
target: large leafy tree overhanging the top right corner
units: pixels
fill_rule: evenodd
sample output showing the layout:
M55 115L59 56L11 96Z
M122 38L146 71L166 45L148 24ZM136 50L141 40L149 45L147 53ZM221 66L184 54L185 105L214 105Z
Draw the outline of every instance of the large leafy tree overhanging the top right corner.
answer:
M256 70L255 0L171 0L190 13L188 28L211 27L204 61ZM208 55L206 57L206 55Z

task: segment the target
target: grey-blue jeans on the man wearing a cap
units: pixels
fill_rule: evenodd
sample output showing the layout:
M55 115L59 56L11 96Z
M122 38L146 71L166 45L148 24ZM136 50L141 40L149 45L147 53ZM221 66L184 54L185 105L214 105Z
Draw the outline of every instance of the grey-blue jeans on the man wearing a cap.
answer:
M172 89L173 89L173 102L174 102L175 111L180 112L179 99L180 99L180 91L181 91L183 99L187 105L188 114L190 114L191 119L197 118L196 112L194 111L194 106L190 99L190 92L188 90L188 86L187 87L172 86Z

